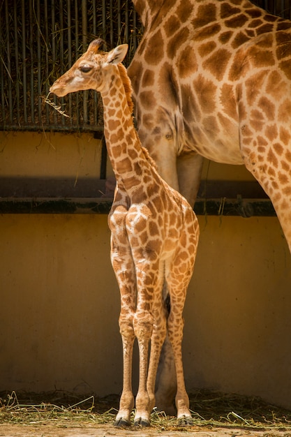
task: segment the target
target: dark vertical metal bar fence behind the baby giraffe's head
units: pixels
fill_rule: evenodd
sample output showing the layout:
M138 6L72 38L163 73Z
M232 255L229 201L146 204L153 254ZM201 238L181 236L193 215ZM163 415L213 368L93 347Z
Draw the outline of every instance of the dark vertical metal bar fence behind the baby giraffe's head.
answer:
M290 18L291 0L257 0ZM129 44L127 62L142 36L130 0L0 0L0 130L102 131L95 91L61 99L62 116L45 103L50 84L101 37L108 49ZM50 96L55 104L59 100Z

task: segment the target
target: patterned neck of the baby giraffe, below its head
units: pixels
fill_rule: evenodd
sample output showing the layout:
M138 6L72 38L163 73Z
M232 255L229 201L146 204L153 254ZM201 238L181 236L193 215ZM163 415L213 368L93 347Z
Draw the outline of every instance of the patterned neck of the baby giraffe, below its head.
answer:
M125 90L125 87L130 87L129 79L126 76L128 83L124 83L119 68L114 66L114 70L110 87L100 92L104 107L104 135L119 188L122 186L130 195L131 191L143 184L144 172L149 170L150 164L135 131L131 108L128 106L126 91L129 92L129 89Z

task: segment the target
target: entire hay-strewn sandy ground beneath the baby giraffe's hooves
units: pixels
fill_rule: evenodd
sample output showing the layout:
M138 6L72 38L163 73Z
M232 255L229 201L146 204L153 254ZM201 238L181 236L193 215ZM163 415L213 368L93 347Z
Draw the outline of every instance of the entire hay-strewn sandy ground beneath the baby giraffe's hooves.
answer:
M0 392L0 437L291 437L291 411L259 398L197 391L190 402L191 426L156 412L149 428L117 429L118 395Z

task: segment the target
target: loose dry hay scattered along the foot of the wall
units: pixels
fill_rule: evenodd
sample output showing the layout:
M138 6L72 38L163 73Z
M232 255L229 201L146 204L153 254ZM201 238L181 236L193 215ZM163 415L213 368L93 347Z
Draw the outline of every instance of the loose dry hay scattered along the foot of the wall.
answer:
M263 402L258 397L198 390L190 395L192 425L181 425L177 417L154 410L151 425L159 431L193 428L227 428L283 431L291 435L291 411ZM42 394L0 394L0 422L10 424L54 424L57 427L82 424L113 424L119 396L76 397L67 392ZM134 417L134 413L133 413Z

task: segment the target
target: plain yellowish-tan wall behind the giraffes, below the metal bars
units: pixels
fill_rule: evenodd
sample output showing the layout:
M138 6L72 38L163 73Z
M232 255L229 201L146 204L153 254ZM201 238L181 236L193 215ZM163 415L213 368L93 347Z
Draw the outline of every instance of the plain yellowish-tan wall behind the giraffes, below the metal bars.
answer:
M91 135L3 134L0 151L0 177L99 177L100 142ZM208 167L213 179L250 180L242 167ZM278 220L199 221L184 311L188 390L258 395L291 408L291 257ZM105 215L0 216L0 390L121 390L109 239ZM135 387L136 369L135 354Z

